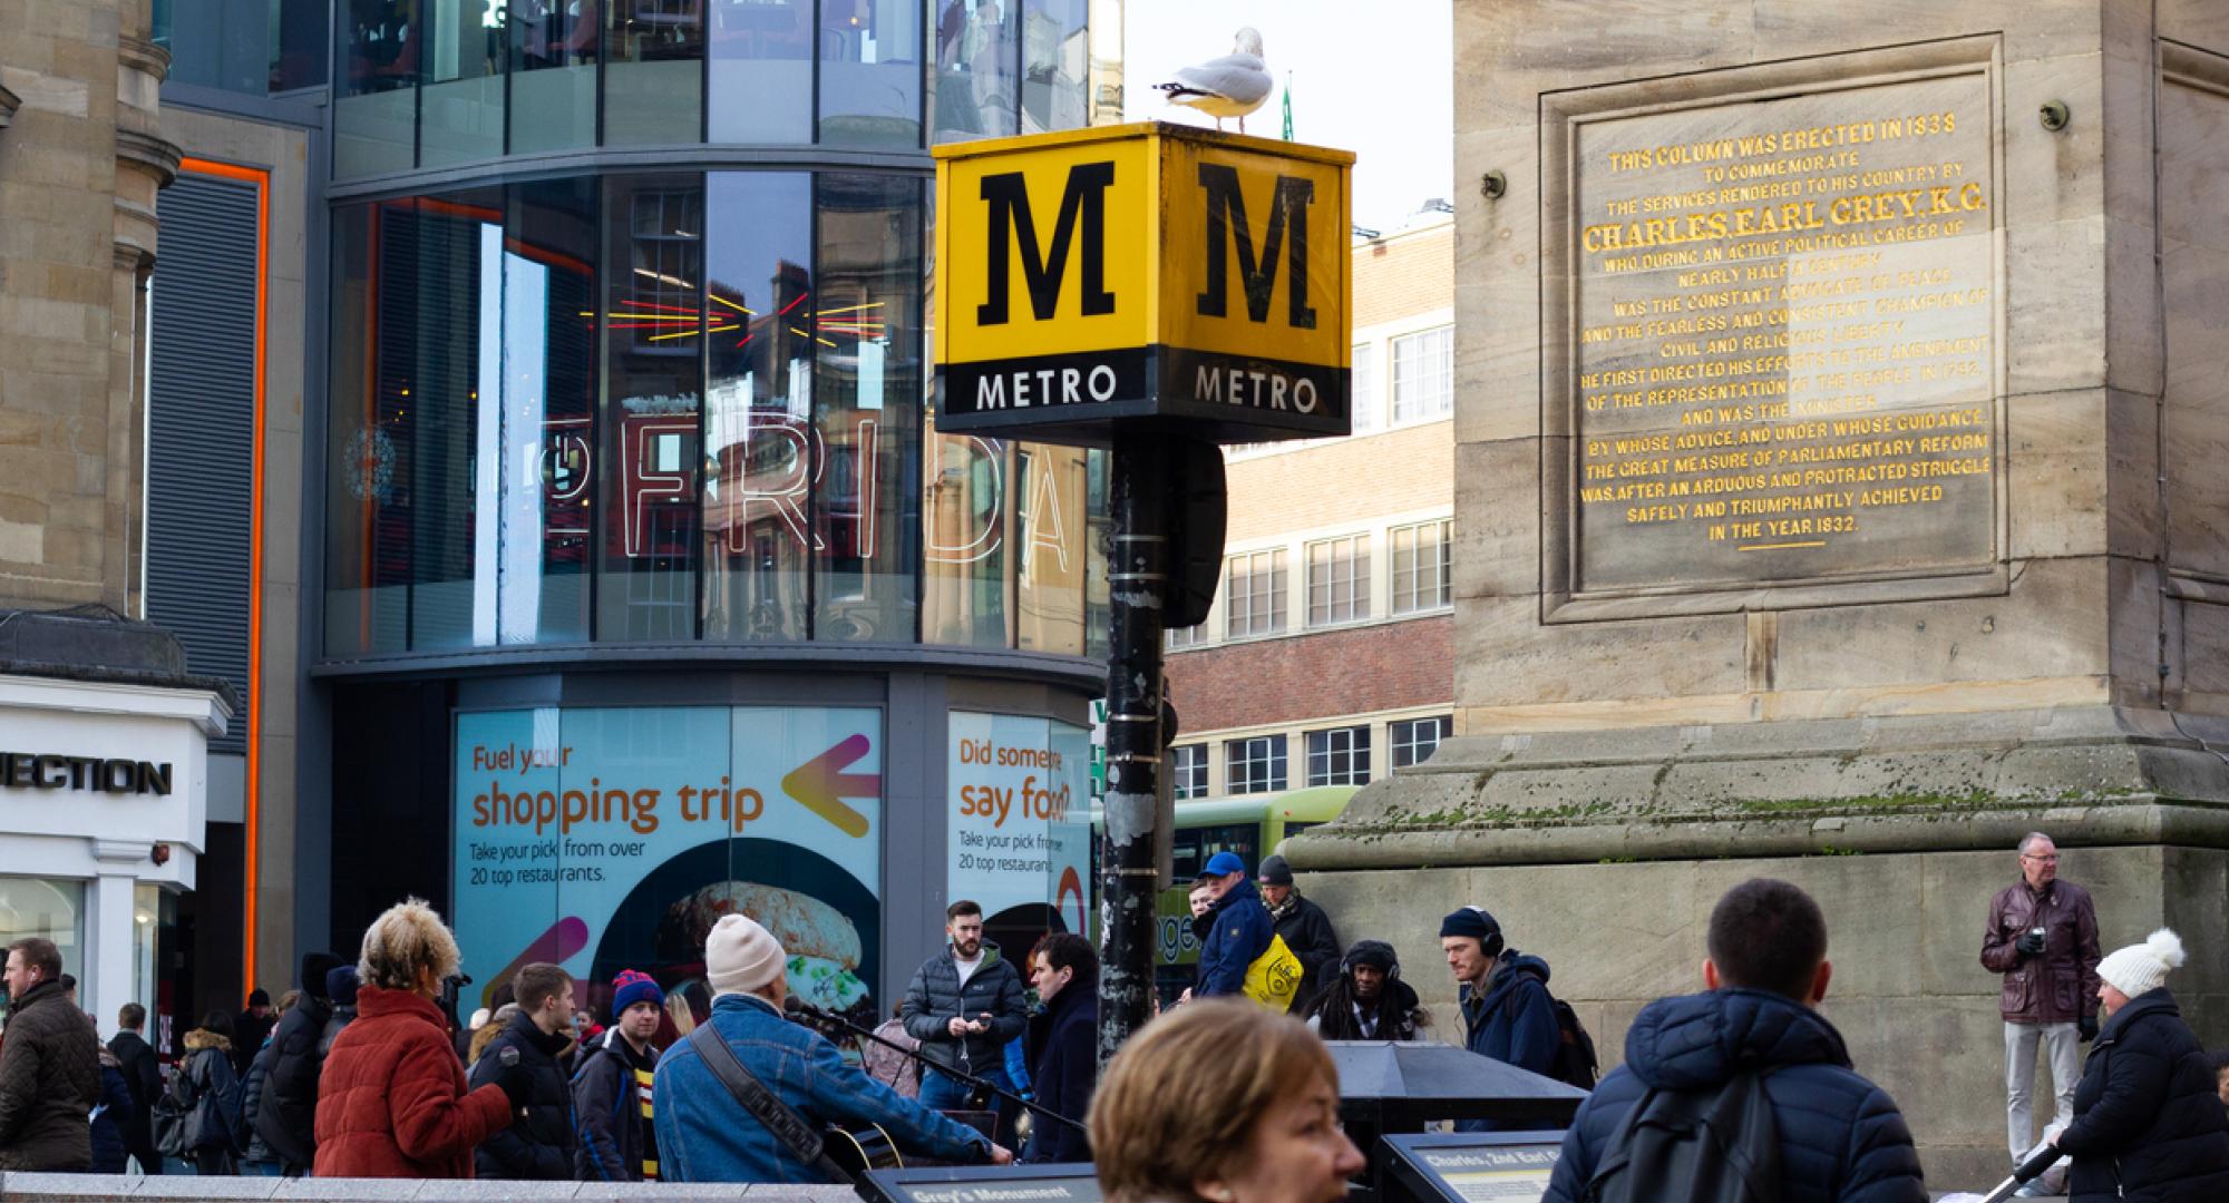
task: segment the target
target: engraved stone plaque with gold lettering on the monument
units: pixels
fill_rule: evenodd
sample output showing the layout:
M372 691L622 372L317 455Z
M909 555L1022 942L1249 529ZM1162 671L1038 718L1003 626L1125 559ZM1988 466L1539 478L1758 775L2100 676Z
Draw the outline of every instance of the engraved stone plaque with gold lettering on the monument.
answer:
M1560 125L1551 593L1801 604L1997 566L1990 114L1964 69Z

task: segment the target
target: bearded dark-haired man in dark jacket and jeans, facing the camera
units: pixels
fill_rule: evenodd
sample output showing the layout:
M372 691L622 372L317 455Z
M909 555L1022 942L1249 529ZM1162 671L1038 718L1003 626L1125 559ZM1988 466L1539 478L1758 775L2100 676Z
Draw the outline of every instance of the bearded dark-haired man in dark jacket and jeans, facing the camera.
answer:
M1005 1076L1005 1045L1030 1027L1021 974L999 956L999 945L983 940L983 907L958 900L945 907L945 936L952 942L914 971L905 987L898 1018L905 1034L921 1040L929 1065L945 1065L983 1078L1001 1089L1014 1089ZM965 1109L974 1087L929 1069L921 1078L921 1105ZM1012 1116L999 1112L1005 1132ZM1001 1145L1012 1145L1001 1138Z

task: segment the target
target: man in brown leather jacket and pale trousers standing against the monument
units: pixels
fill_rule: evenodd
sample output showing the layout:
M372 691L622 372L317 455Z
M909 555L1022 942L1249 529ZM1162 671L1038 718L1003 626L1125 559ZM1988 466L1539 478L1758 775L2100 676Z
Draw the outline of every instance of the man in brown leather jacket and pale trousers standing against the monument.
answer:
M2057 1123L2073 1121L2082 1080L2077 1040L2097 1036L2097 909L2060 880L2060 849L2031 831L2019 840L2019 880L1988 902L1982 967L2004 974L2006 1143L2017 1165L2035 1147L2035 1047L2051 1056Z

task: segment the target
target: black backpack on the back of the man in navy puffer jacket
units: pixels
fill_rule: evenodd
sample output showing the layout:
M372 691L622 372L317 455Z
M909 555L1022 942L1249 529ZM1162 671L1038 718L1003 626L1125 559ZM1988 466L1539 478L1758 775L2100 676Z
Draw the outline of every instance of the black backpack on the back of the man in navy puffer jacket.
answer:
M1781 1132L1763 1074L1719 1089L1649 1089L1587 1178L1589 1203L1772 1203L1781 1194Z

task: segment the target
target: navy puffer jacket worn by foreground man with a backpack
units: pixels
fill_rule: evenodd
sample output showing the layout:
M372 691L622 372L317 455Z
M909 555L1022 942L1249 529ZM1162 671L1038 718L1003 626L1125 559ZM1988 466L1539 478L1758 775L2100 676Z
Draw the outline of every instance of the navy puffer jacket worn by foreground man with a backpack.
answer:
M1578 1105L1542 1203L1585 1199L1649 1087L1705 1089L1748 1069L1770 1069L1783 1203L1928 1203L1897 1103L1850 1069L1841 1034L1819 1011L1759 989L1649 1002L1625 1034L1625 1065Z

